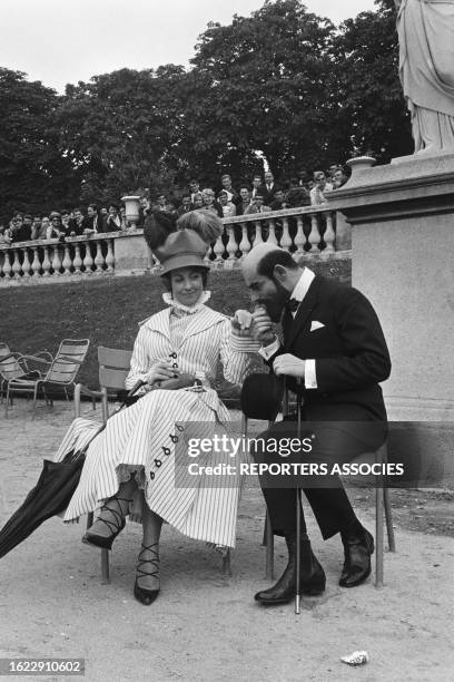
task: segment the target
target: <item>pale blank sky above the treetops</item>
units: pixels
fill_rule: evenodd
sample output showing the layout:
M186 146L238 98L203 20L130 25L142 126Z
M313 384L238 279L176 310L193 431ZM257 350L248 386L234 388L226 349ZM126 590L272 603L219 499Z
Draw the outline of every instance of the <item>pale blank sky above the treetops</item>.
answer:
M68 82L130 68L188 66L209 21L228 25L264 0L0 0L0 66L65 91ZM338 25L374 0L306 0Z

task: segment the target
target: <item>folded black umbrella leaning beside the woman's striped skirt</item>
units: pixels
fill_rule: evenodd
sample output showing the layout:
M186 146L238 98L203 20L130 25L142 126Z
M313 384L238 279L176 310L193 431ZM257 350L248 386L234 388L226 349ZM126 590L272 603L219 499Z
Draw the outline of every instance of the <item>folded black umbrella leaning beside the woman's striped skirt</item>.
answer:
M111 417L128 405L142 383L136 383ZM65 512L79 484L87 449L105 428L106 425L102 425L96 431L83 450L71 450L61 461L45 459L37 485L0 530L0 558L31 535L45 520Z

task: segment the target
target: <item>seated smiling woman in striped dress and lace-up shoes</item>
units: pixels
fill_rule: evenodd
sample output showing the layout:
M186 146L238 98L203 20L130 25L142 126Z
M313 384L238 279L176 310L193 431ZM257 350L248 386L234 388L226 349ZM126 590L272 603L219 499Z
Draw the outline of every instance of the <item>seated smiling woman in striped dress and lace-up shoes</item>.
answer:
M169 289L164 294L168 308L141 323L126 380L128 389L145 381L146 392L110 418L90 444L79 486L63 517L70 522L102 505L82 539L110 549L125 527L135 490L144 491L144 539L135 596L145 604L150 604L159 592L162 520L191 538L235 546L239 481L229 476L223 487L216 477L216 488L204 476L197 476L196 481L194 476L191 480L186 478L187 487L181 481L176 487L175 481L175 454L177 444L185 438L184 423L193 422L190 436L201 438L211 436L229 419L226 407L210 388L219 359L225 378L238 383L251 369L256 350L250 339L236 335L228 318L205 304L209 298L205 290L206 250L206 243L191 230L169 234L162 247L155 249ZM158 388L175 377L187 386L177 390ZM195 386L195 379L203 386ZM97 428L99 425L87 419L75 420L57 460L69 449L88 442ZM214 452L203 457L201 464L217 461ZM200 458L193 461L200 462ZM185 471L185 466L179 470Z

